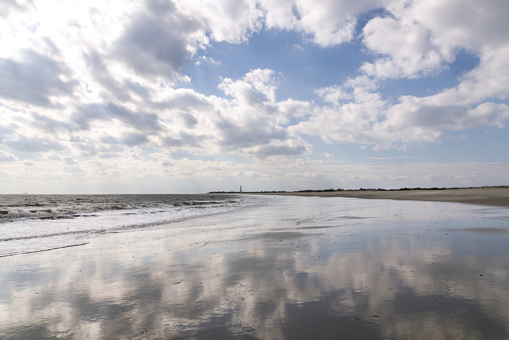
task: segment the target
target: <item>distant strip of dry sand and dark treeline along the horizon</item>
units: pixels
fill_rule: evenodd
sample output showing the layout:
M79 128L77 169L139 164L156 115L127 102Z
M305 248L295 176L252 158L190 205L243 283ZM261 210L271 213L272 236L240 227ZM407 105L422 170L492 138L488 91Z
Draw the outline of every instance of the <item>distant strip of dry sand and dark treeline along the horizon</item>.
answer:
M224 192L209 194L254 194L287 196L349 197L413 201L456 202L509 207L509 186L468 188L401 188L401 189L326 189L300 191Z

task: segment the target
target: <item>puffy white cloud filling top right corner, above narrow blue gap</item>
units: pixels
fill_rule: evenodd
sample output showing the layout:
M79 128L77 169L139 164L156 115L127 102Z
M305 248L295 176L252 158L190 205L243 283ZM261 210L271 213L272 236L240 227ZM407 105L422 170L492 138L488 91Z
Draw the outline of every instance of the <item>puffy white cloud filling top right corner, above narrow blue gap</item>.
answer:
M390 15L371 19L363 29L363 43L382 57L364 63L361 70L376 77L438 73L462 48L488 61L488 50L509 43L506 2L394 1L386 9Z

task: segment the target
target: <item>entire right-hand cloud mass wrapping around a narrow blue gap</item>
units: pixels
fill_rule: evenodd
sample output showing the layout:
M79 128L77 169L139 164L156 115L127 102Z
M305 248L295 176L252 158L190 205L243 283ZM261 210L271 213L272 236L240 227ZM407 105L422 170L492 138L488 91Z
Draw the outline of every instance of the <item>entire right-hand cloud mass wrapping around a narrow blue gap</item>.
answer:
M407 5L394 2L386 8L389 14L366 23L362 42L379 57L360 67L364 75L318 89L330 106L315 108L307 121L289 128L291 133L380 149L438 141L447 129L505 126L507 105L492 100L509 95L509 34L501 14L507 5L465 6L454 1ZM438 20L437 13L453 19ZM460 49L476 54L480 62L461 76L457 86L425 97L401 96L394 104L377 92L386 78L440 73Z

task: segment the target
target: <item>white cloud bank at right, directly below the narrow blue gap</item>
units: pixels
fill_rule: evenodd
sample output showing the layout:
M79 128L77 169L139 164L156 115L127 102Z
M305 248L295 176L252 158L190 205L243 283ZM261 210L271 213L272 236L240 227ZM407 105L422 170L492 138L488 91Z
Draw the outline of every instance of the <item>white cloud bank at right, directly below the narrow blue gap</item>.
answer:
M380 149L437 141L443 130L504 127L509 120L509 107L505 104L472 105L475 101L467 96L471 90L464 83L428 97L401 96L399 103L392 106L380 93L371 92L372 87L366 89L362 83L344 92L346 88L318 90L333 105L316 107L308 120L290 126L289 132L298 136L317 135L328 143L355 142Z

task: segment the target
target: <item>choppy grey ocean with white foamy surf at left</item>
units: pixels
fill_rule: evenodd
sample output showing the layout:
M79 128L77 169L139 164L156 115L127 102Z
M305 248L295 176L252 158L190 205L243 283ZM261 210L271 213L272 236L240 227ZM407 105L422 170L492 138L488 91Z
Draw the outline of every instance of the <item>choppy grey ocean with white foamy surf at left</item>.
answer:
M0 195L0 257L266 204L263 197L228 194Z

